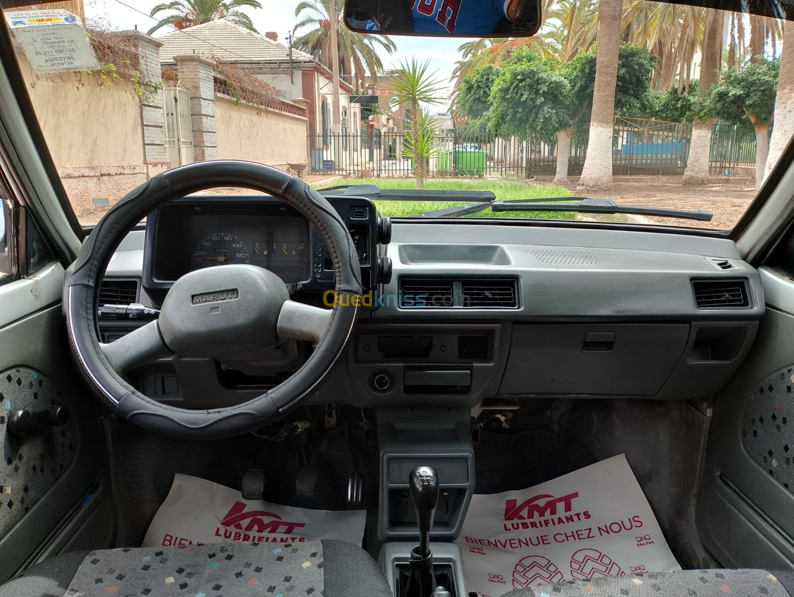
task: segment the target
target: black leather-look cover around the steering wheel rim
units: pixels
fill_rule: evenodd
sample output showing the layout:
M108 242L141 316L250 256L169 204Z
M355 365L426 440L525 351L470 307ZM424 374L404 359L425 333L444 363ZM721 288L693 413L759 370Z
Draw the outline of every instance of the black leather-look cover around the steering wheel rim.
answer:
M361 294L358 256L344 221L322 195L286 172L237 160L200 162L153 176L126 195L87 237L68 280L67 328L72 356L91 390L119 416L172 437L230 437L282 418L325 376L344 349L357 318L353 301L337 302L325 335L303 367L279 386L237 406L179 409L149 399L121 379L110 367L98 340L96 289L110 257L123 235L152 210L175 198L220 186L264 191L299 210L328 245L337 272L337 294ZM347 306L343 306L345 302Z

